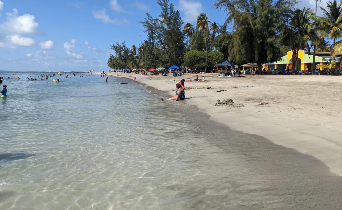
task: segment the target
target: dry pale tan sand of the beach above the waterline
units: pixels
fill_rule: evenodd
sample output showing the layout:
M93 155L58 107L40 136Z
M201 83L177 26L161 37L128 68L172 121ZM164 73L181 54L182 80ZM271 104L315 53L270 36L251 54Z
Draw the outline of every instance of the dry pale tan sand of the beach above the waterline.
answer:
M108 75L117 75L110 73ZM187 104L200 108L212 120L250 134L268 138L276 144L322 160L332 173L342 176L342 76L244 75L239 78L213 77L207 81L185 82ZM182 77L142 76L119 73L174 95ZM176 80L176 81L170 81ZM211 89L206 89L211 86ZM226 92L216 92L217 90ZM232 106L214 106L217 100L233 99ZM266 105L258 105L265 102ZM178 103L178 102L177 102Z

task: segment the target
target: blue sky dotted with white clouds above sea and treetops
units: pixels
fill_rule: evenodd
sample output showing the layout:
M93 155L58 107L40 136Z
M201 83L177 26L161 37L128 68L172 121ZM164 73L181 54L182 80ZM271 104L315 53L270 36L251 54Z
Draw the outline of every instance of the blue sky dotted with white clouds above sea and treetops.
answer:
M223 24L225 14L211 0L170 0L184 22L201 12ZM305 0L298 7L314 7ZM322 0L320 5L325 5ZM0 0L0 70L108 71L109 45L145 38L146 12L157 17L155 0Z

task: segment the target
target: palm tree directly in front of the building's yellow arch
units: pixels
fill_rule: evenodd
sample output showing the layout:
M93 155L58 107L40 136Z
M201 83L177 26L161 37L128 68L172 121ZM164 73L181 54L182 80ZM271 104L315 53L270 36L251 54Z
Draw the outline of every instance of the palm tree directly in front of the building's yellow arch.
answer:
M310 9L296 9L290 11L289 24L285 25L284 39L285 42L292 48L292 63L293 68L298 64L298 53L300 49L305 49L310 52L308 41L312 38L311 29L313 27L314 14Z

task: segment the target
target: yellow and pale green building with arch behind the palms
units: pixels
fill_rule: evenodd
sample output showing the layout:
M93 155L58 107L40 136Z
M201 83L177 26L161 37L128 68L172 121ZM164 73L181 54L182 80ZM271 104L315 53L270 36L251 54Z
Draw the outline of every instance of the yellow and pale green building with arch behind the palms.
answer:
M280 58L280 60L275 61L275 62L271 62L271 63L267 63L267 64L263 64L263 68L265 68L267 71L271 71L274 69L287 69L287 67L289 67L289 69L295 69L295 67L293 67L292 64L292 54L293 51L289 51L287 52L287 54L285 56L282 56ZM329 59L332 58L330 56L330 52L316 52L316 56L315 56L315 65L317 64L325 64L325 61L323 60L323 58L325 59ZM341 57L335 57L336 62L338 63L339 67L341 66ZM313 52L310 52L310 54L307 51L304 50L299 50L298 52L298 70L299 71L304 71L305 69L308 69L309 71L312 70L312 60L313 60ZM323 70L322 68L320 70Z

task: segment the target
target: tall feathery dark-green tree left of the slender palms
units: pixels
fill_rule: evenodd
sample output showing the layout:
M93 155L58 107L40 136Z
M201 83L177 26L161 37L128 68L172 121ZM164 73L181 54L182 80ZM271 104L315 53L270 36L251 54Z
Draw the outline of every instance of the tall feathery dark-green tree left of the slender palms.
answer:
M157 3L161 8L159 18L153 18L147 13L145 20L138 22L145 28L144 32L147 32L147 42L138 50L144 68L180 65L185 50L184 22L180 11L175 10L169 0L157 0Z

